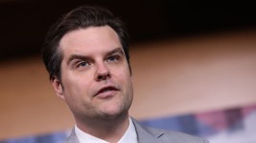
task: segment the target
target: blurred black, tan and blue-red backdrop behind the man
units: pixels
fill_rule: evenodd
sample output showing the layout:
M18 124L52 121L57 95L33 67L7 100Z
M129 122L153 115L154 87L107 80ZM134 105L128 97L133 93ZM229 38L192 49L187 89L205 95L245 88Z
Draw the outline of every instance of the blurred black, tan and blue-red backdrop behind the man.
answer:
M256 9L250 1L0 0L0 142L60 142L72 113L39 51L59 16L105 6L128 26L142 124L211 143L256 142Z

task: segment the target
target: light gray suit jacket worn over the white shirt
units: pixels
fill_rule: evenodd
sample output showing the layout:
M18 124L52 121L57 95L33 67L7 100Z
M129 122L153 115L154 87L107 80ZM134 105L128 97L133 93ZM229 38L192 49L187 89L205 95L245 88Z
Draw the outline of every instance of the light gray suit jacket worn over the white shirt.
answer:
M197 136L144 127L134 119L132 119L132 122L135 126L139 143L209 143L206 139ZM65 143L80 143L74 130Z

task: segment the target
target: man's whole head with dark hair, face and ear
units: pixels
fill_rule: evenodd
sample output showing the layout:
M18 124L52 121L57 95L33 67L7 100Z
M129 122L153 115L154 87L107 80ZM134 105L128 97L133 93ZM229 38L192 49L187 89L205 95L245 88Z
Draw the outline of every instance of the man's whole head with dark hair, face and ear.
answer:
M72 10L50 29L42 53L51 83L78 126L128 117L133 97L128 33L110 11Z

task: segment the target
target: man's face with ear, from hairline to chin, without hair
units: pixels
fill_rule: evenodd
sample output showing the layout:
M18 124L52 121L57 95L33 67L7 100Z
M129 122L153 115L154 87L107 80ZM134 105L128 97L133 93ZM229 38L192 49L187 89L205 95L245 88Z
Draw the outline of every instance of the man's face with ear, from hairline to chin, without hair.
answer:
M77 120L128 113L132 83L115 31L108 26L70 31L60 40L59 49L61 84L58 79L52 84Z

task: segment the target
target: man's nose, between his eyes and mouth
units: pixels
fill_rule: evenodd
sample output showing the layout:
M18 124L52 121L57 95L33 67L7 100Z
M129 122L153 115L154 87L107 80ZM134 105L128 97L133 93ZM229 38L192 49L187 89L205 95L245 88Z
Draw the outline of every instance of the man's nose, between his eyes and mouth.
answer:
M106 80L110 77L110 72L107 68L107 66L105 65L105 63L98 63L97 64L97 70L95 72L95 79L97 81L102 81L102 80Z

